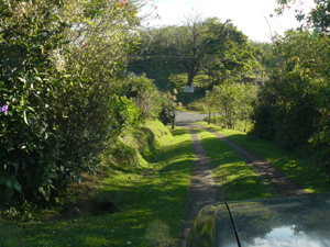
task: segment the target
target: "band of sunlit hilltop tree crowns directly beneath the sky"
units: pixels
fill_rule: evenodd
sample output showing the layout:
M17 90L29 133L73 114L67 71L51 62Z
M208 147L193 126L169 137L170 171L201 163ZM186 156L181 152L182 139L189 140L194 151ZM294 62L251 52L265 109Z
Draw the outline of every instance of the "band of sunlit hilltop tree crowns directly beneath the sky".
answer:
M253 49L248 37L231 23L202 19L191 12L183 25L150 29L142 36L143 57L176 64L187 74L187 85L202 70L231 75L251 70Z

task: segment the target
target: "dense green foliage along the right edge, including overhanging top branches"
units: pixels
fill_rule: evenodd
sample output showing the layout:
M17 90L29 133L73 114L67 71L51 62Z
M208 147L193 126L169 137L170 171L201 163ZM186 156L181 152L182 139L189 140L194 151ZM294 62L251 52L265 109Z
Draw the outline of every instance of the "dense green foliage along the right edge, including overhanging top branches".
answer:
M277 2L279 14L296 3ZM329 165L329 3L315 3L307 13L297 9L296 18L306 21L301 29L274 37L260 56L270 80L260 91L252 133L289 149L311 150L317 161Z

